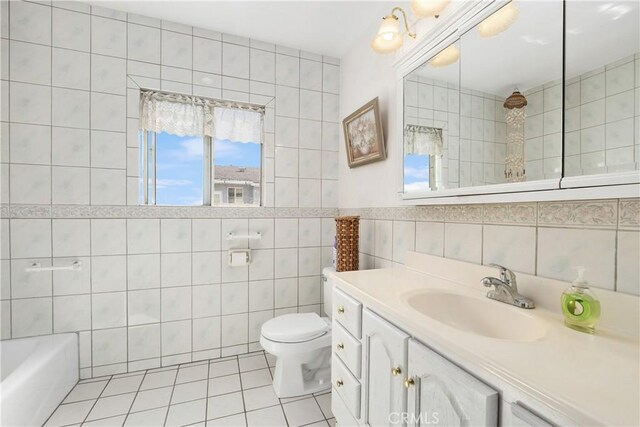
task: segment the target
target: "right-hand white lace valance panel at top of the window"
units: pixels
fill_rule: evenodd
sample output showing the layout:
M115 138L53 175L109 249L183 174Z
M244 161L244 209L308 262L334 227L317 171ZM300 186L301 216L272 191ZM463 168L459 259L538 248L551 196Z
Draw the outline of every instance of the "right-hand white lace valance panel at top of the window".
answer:
M214 108L215 138L221 141L262 143L264 116L252 110Z

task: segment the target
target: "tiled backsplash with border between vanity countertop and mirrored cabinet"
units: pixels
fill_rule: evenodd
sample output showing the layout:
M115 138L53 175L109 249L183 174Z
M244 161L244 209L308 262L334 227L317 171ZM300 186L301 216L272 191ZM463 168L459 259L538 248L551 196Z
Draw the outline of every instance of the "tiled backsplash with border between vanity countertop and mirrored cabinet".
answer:
M566 281L576 278L576 267L585 266L592 286L640 295L638 199L349 209L344 214L363 218L361 269L402 264L406 250L415 247Z

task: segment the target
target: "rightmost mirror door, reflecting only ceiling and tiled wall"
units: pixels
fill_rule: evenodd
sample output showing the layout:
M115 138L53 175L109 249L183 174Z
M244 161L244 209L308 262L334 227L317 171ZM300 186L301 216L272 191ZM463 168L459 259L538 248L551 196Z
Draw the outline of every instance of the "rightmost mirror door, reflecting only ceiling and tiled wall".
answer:
M565 175L640 164L640 2L566 5Z

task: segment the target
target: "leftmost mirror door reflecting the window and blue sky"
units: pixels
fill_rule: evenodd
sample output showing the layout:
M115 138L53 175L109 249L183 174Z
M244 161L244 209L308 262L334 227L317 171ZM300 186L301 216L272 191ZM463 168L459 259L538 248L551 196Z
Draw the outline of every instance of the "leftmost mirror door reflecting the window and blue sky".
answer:
M458 187L459 46L404 78L404 192Z

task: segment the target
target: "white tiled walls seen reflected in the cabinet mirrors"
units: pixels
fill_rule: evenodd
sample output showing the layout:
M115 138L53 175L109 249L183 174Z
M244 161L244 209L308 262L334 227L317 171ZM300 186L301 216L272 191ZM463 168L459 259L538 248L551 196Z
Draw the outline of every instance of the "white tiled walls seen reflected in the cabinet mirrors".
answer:
M569 80L565 88L565 176L620 172L640 167L640 54ZM504 182L506 127L503 97L445 92L446 84L420 77L405 82L406 122L458 128L445 135L447 187ZM634 95L634 92L636 95ZM548 82L524 92L525 169L529 180L562 172L562 86ZM634 96L636 97L634 99ZM458 106L452 101L459 99ZM442 112L448 115L442 115ZM438 114L440 113L440 119ZM635 122L635 125L634 125ZM456 170L456 168L459 168ZM447 170L448 169L448 170Z

